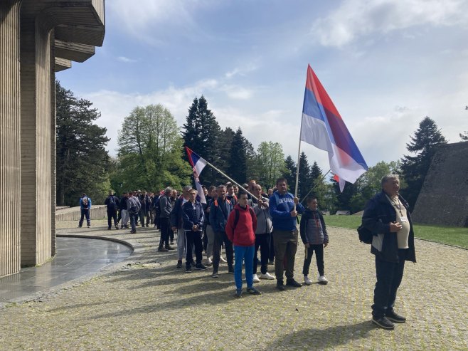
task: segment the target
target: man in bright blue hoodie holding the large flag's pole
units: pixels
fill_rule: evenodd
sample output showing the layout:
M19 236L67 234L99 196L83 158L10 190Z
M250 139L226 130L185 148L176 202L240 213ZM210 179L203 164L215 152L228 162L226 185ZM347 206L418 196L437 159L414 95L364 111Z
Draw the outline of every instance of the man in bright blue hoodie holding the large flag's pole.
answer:
M297 214L304 212L304 206L299 204L297 197L287 192L286 178L277 179L276 188L277 191L270 197L275 242L276 287L278 290L286 289L283 284L283 261L286 259L286 285L300 288L302 285L294 280L294 258L297 251Z

